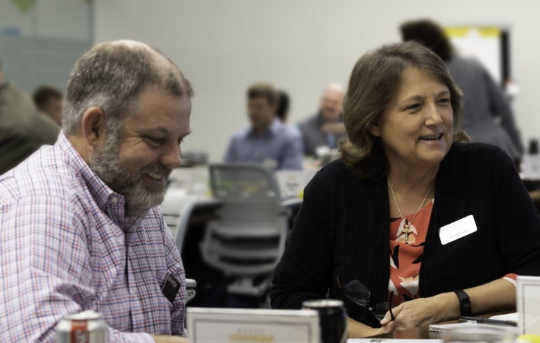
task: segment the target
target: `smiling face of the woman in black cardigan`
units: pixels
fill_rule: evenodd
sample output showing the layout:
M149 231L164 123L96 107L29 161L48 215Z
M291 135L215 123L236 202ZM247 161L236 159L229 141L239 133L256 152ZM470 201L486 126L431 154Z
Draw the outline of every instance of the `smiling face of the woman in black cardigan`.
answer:
M443 80L415 67L405 69L394 98L371 126L389 164L408 168L439 164L453 141L453 109Z

